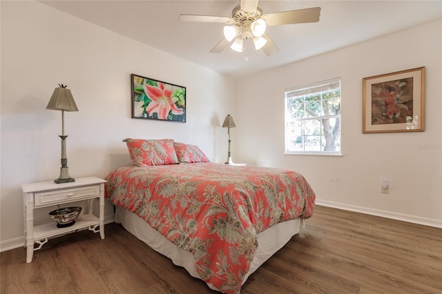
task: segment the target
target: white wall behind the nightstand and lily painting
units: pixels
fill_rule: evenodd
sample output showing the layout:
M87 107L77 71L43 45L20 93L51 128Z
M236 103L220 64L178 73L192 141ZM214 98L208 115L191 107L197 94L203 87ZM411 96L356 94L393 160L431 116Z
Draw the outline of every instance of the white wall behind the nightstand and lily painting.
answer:
M131 119L131 73L185 86L187 122ZM231 79L44 4L1 1L1 250L24 241L20 185L59 176L61 112L46 110L57 84L79 108L65 114L71 177L128 164L126 137L197 144L225 160ZM37 210L35 222L52 209Z

